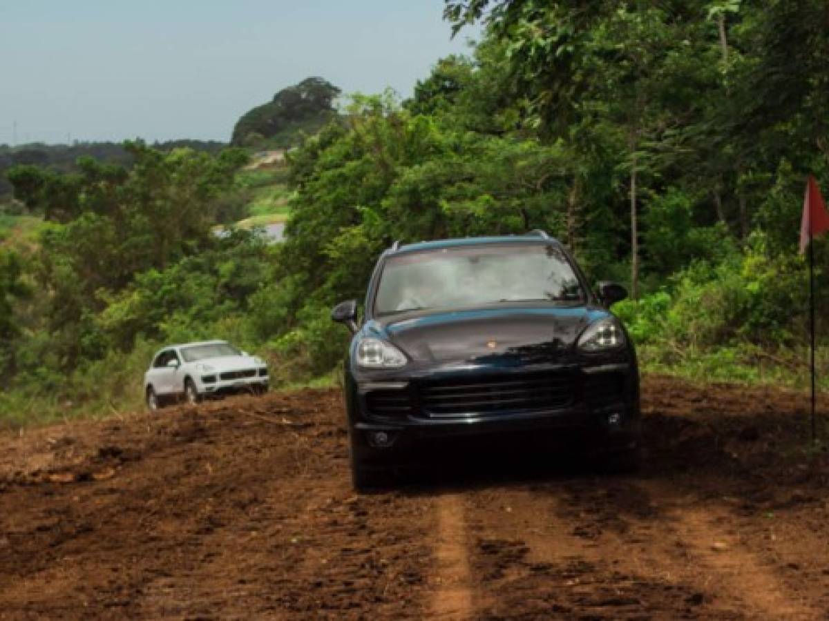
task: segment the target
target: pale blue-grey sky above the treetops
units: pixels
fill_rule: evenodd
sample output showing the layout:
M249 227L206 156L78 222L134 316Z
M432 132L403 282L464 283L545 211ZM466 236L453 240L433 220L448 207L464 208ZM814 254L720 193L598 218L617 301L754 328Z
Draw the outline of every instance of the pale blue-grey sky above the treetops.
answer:
M401 97L451 53L443 0L0 0L0 143L230 139L318 75ZM16 128L16 131L15 131Z

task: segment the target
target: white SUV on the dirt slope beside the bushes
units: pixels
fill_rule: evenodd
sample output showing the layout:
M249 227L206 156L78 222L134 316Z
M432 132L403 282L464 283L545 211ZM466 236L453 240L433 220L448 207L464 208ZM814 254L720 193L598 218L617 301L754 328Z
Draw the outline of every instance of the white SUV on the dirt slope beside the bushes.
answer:
M224 340L159 349L144 373L144 397L151 410L182 397L197 403L212 395L267 390L268 366L264 360Z

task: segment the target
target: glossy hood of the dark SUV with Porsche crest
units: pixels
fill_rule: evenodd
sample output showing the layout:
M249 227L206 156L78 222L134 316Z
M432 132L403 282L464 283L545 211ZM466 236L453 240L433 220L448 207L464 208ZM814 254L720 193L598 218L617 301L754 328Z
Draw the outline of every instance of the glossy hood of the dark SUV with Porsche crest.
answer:
M371 320L364 330L389 340L414 362L563 359L595 320L608 316L592 306L455 310Z

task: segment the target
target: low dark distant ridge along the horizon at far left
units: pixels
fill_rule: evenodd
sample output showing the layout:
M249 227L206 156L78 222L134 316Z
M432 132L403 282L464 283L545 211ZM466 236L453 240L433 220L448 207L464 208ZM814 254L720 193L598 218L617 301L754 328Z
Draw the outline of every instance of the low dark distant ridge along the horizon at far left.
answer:
M189 147L195 151L215 153L227 147L226 142L216 140L170 140L155 142L154 148L169 151L178 147ZM92 156L110 164L128 166L131 156L124 151L122 142L75 142L74 144L47 145L41 142L10 147L0 144L0 203L12 195L12 184L6 179L7 169L17 164L36 164L55 171L77 170L75 162L80 156Z

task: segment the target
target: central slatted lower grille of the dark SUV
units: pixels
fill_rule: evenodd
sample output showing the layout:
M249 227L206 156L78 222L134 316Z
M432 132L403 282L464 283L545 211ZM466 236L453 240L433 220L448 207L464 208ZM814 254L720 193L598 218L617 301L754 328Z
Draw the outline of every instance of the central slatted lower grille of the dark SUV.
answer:
M426 416L452 418L555 410L575 393L572 373L527 373L424 383L420 401Z

